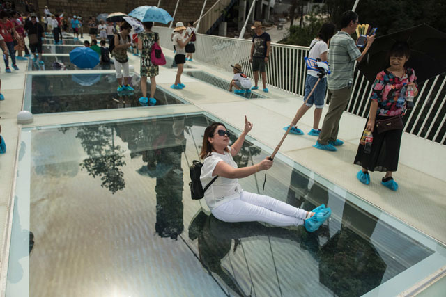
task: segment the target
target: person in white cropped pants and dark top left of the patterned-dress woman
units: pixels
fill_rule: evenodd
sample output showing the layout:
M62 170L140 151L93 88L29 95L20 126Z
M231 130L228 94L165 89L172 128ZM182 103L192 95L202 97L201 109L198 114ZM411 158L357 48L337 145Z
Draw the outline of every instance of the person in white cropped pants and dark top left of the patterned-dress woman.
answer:
M132 26L128 22L121 24L121 32L114 36L113 62L116 69L116 79L118 79L118 92L132 91L133 88L128 84L130 81L130 72L128 65L127 49L132 46L130 42L130 31ZM121 69L124 75L121 73ZM123 81L124 76L124 81Z

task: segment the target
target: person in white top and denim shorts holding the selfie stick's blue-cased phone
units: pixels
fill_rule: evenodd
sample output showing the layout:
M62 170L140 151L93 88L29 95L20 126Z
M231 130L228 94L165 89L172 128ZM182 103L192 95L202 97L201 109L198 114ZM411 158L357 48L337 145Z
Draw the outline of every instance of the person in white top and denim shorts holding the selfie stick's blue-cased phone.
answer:
M328 42L330 38L334 35L336 30L336 25L333 23L325 23L322 25L321 31L319 31L318 36L314 38L312 43L309 45L308 57L312 59L321 59L325 62L328 58ZM313 118L313 129L308 132L308 135L319 136L321 129L319 129L319 122L321 121L322 109L325 105L325 89L327 88L327 77L323 77L319 81L316 89L314 89L312 96L308 98L309 93L312 91L314 85L318 81L318 71L308 70L307 78L305 79L305 94L304 102L299 111L297 121L305 115L305 113L312 108L314 104L314 118ZM308 99L307 99L308 98ZM289 126L284 127L284 130L288 130ZM298 128L298 126L292 127L290 130L291 134L303 135L304 132Z

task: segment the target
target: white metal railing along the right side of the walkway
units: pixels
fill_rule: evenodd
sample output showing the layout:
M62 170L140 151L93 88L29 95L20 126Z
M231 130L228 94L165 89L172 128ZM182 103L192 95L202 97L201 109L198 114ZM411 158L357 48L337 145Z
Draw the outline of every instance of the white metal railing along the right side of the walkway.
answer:
M157 27L162 47L172 48L171 31ZM252 65L249 63L251 40L239 40L215 35L197 34L194 60L232 73L234 63L242 65L245 74L253 77ZM295 95L304 95L307 69L304 57L309 47L271 44L270 60L266 67L269 86ZM415 70L416 73L416 70ZM419 136L435 143L446 145L446 75L441 74L419 85L420 93L415 98L414 109L405 116L407 133ZM351 100L346 112L367 118L369 115L369 98L371 83L364 75L355 70Z

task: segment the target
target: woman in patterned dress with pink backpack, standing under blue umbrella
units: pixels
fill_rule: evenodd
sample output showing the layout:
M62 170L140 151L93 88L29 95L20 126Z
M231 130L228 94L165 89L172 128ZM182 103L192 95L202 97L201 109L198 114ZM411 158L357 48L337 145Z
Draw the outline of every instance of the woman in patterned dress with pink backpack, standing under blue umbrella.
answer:
M143 105L155 105L155 77L160 74L159 66L151 61L151 48L155 42L160 45L160 36L152 31L153 22L144 22L144 32L138 34L138 49L141 51L141 92L139 102ZM147 77L151 78L151 97L147 98Z

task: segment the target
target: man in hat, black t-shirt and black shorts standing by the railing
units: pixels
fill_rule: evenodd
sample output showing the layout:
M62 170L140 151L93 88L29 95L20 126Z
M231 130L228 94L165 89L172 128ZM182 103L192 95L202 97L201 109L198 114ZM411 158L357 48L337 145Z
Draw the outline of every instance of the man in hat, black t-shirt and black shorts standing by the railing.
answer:
M266 88L266 63L268 63L271 49L271 37L263 31L261 22L254 22L255 35L252 38L251 56L249 62L252 63L252 71L254 71L254 86L251 90L257 90L259 87L259 71L262 74L263 92L268 92Z

